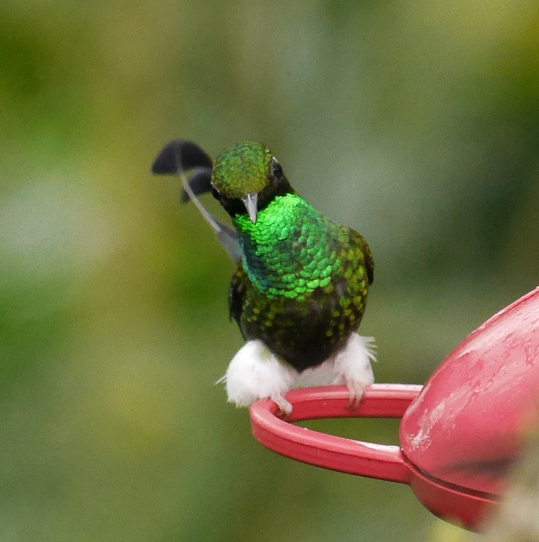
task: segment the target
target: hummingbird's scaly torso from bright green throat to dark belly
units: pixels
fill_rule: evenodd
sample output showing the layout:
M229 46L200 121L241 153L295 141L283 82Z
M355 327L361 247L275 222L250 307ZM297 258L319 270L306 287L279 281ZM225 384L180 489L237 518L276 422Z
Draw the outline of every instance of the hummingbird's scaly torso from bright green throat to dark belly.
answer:
M230 314L297 370L343 346L365 311L373 262L356 231L338 226L295 193L233 218L244 259L233 276Z

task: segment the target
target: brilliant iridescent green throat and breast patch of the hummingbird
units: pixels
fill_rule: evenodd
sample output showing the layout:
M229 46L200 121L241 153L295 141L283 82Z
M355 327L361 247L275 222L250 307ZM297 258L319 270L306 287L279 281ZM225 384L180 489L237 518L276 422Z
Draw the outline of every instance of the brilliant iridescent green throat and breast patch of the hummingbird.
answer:
M259 292L270 299L304 298L328 287L341 266L339 227L297 194L277 196L253 224L236 215L245 254L243 267Z

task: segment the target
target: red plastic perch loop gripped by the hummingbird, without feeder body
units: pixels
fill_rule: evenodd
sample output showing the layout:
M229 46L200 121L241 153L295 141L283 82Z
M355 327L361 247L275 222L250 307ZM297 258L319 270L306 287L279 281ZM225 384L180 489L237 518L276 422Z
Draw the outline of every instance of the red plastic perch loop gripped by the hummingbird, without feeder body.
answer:
M349 408L345 386L306 388L288 393L293 411L287 421L276 415L278 407L270 399L251 407L253 435L264 446L282 455L350 474L408 483L409 470L398 446L373 444L326 435L291 422L318 418L400 418L421 391L421 386L375 384L365 391L359 408Z

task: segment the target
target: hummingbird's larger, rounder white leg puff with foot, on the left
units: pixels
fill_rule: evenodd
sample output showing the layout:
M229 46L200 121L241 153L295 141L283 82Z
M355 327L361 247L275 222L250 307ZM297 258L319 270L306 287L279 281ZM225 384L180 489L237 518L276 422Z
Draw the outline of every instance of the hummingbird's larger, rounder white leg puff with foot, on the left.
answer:
M258 399L271 397L290 414L292 405L284 394L294 384L297 371L279 362L261 340L250 340L232 358L225 376L229 403L250 406Z

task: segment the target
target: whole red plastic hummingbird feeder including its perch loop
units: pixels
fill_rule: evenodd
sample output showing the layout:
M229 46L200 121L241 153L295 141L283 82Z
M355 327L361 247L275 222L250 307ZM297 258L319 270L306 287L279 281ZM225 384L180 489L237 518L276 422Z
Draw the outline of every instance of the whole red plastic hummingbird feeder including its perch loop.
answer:
M447 356L424 386L374 384L356 410L344 386L293 390L281 420L264 399L253 435L318 467L408 484L440 518L468 529L497 506L505 474L539 410L539 288L504 308ZM400 446L337 437L292 422L401 418Z

